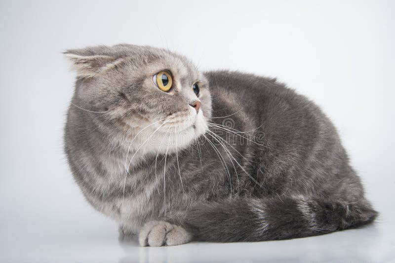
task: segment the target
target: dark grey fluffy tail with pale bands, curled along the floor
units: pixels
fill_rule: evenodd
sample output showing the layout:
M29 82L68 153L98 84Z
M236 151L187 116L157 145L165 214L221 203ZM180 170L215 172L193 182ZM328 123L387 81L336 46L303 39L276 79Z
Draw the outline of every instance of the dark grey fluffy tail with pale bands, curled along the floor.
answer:
M304 196L234 198L197 205L186 226L197 240L263 241L320 235L373 222L367 201L345 203Z

